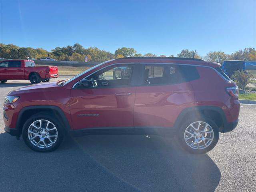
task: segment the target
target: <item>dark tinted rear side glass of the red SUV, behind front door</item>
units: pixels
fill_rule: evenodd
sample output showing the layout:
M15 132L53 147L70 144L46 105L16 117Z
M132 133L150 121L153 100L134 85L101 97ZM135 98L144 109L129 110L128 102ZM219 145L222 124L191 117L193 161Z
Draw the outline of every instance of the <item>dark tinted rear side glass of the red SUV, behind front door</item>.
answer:
M156 70L152 72L152 70ZM144 84L177 84L199 78L195 66L184 65L163 65L163 66L146 66L144 70Z

